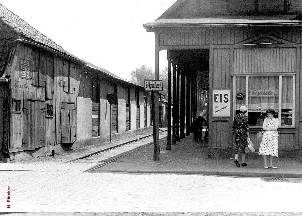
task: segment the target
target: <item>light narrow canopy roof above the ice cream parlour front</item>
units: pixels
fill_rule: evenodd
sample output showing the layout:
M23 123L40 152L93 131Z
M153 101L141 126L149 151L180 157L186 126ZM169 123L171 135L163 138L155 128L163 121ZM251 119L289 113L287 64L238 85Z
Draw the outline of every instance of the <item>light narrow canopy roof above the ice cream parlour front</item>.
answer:
M300 25L301 20L292 20L295 15L280 16L240 16L239 17L208 17L194 19L159 19L154 22L144 24L144 27L182 27L187 25Z

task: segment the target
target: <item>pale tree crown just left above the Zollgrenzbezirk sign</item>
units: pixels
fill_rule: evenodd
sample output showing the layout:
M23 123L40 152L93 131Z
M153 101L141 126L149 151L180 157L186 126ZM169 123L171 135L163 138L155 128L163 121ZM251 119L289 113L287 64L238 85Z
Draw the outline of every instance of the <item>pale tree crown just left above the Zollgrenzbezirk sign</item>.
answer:
M145 79L154 79L154 73L151 67L142 65L131 72L131 82L144 86Z

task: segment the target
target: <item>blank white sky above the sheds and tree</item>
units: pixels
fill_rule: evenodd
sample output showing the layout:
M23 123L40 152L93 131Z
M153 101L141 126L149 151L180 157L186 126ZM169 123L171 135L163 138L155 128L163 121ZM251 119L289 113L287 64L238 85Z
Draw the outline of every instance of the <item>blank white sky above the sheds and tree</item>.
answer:
M66 51L123 79L141 65L154 70L155 21L176 0L14 0L1 4ZM167 66L160 51L159 69Z

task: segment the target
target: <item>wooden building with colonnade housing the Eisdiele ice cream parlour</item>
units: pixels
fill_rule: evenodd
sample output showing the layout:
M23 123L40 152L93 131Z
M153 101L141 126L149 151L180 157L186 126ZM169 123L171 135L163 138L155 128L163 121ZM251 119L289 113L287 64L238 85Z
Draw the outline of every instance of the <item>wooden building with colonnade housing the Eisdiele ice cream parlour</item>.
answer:
M267 109L274 109L279 119L280 152L302 148L301 11L302 2L296 0L178 0L144 24L155 33L155 66L158 52L167 50L168 79L177 86L172 89L177 106L172 115L180 118L180 129L169 129L167 148L190 134L196 73L209 76L211 150L234 152L232 121L243 105L256 150Z

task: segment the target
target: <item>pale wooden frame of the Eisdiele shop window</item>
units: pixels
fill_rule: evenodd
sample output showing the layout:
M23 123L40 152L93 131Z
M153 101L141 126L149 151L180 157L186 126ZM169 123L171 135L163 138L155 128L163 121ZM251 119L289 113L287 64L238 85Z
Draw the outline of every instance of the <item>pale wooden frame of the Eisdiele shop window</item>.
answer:
M249 77L250 76L279 76L279 96L278 96L278 120L279 120L279 125L278 127L285 127L285 128L294 128L295 127L295 91L296 91L296 74L295 73L276 73L276 74L272 74L272 73L261 73L261 74L233 74L233 117L232 117L232 121L234 121L234 117L236 114L236 77L238 76L245 76L246 77L246 86L245 86L245 104L246 107L248 108L247 112L246 112L246 116L248 116L248 112L249 112ZM291 126L281 126L282 123L282 119L281 119L281 110L282 110L282 77L283 76L292 76L293 77L293 113L292 113L292 125ZM262 126L250 126L250 128L262 128Z

